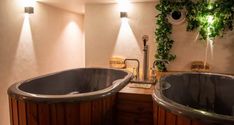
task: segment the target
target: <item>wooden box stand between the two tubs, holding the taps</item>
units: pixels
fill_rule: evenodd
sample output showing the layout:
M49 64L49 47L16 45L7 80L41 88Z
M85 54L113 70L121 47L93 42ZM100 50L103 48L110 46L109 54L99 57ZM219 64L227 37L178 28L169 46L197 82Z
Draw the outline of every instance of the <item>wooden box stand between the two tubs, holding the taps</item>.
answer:
M116 125L153 125L153 88L122 89L116 99Z

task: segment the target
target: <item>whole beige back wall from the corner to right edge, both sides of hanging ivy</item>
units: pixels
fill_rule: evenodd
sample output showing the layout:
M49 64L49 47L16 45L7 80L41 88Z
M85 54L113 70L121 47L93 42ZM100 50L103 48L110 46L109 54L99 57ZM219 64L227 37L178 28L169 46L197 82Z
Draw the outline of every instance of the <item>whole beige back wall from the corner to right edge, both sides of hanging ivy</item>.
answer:
M121 23L117 4L88 4L85 15L86 66L109 67L110 57L117 55L142 60L142 35L150 36L150 66L155 53L155 10L157 2L134 3L128 12L128 23ZM208 50L211 72L234 73L234 32L215 40L213 56ZM196 32L186 31L186 22L173 25L172 52L177 55L170 71L190 71L192 61L205 61L206 42L196 40ZM141 61L142 62L142 61Z

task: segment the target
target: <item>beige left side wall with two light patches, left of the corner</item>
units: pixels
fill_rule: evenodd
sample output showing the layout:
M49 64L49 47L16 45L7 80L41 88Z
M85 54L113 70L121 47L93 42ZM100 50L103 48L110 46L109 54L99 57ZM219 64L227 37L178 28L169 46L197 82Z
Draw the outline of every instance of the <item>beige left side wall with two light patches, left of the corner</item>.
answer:
M0 125L9 125L7 88L14 82L84 67L83 16L22 0L0 1Z

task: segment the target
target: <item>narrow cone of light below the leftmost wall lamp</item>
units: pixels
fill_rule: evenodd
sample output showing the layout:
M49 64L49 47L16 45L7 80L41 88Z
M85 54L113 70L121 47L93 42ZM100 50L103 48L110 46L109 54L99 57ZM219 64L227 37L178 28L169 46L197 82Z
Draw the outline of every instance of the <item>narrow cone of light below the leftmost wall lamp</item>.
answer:
M37 68L30 18L28 14L25 14L14 60L13 72L16 73L14 79L20 79L24 77L24 74L33 76L37 74Z

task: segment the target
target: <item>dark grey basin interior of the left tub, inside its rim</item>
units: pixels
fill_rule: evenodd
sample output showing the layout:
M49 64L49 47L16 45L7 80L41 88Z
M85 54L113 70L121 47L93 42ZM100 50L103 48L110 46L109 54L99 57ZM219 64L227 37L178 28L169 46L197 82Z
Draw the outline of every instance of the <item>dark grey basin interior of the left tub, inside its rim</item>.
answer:
M126 75L126 72L112 69L70 70L25 81L19 89L41 95L87 93L105 89Z

